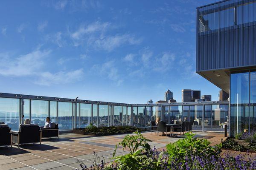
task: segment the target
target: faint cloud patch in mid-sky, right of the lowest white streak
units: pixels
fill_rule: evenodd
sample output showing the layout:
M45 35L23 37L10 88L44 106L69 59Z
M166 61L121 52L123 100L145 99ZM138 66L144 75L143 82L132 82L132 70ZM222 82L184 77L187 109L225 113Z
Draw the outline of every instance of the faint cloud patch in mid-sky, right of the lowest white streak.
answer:
M121 85L123 82L114 60L105 62L102 65L93 65L92 71L99 73L101 76L107 76L108 79L115 82L117 86Z

